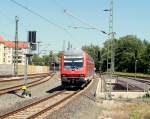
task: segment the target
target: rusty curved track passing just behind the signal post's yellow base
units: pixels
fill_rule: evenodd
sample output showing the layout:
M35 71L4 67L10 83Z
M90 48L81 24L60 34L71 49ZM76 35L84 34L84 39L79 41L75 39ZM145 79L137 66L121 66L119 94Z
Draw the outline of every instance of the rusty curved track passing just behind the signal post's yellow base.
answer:
M51 74L51 76L53 76L53 75L54 74ZM46 78L44 78L45 76L40 76L40 78L38 80L35 80L35 81L32 81L32 82L28 83L27 87L32 87L32 86L36 86L36 85L39 85L41 83L44 83L44 82L48 81L51 78L51 76L47 76ZM21 90L21 87L23 85L24 84L17 85L17 86L12 86L12 87L9 87L9 88L0 89L0 95L6 94L6 93L9 93L9 92L12 92L12 91Z

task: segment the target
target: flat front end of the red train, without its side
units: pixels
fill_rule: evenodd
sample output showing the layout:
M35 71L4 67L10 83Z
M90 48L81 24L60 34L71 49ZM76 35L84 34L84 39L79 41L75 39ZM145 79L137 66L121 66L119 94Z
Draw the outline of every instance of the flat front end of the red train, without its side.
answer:
M81 86L85 83L83 51L65 51L61 59L61 82L65 86Z

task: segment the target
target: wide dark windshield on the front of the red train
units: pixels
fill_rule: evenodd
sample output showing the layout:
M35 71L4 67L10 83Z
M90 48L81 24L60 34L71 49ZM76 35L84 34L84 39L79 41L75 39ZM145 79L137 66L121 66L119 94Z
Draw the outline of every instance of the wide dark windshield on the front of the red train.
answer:
M80 70L83 67L83 59L64 59L65 70Z

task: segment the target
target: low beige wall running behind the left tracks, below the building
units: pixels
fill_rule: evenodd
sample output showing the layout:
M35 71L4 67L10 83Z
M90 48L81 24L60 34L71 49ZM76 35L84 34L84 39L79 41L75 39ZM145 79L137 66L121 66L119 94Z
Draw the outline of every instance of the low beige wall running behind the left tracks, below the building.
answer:
M24 65L18 66L18 75L24 74ZM28 66L28 74L36 73L48 73L49 68L47 66ZM13 75L13 65L12 64L0 64L0 75Z

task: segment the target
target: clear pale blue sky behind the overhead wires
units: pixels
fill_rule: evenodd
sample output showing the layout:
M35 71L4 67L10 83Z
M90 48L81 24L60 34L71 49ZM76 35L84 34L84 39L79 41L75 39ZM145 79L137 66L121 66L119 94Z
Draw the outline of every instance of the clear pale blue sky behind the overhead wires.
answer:
M19 40L27 41L27 32L37 31L41 41L40 52L62 50L70 41L73 48L83 45L102 47L107 35L94 29L74 29L68 26L88 27L78 19L64 13L64 9L96 28L108 31L110 0L15 0L49 20L49 22L14 4L11 0L0 0L0 35L14 40L15 16L19 17ZM114 0L114 32L116 38L136 35L150 41L150 0ZM56 25L51 24L53 22ZM61 27L61 28L60 28ZM66 30L64 30L66 29Z

